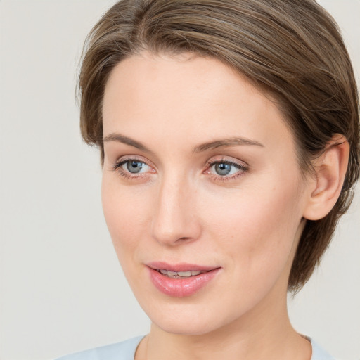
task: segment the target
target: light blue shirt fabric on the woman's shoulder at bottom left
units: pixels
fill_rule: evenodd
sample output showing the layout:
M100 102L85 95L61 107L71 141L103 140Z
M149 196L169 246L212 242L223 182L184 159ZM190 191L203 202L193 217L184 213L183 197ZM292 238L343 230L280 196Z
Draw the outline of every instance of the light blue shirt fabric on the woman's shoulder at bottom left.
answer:
M136 347L142 338L143 336L138 336L115 344L63 356L56 360L133 360Z

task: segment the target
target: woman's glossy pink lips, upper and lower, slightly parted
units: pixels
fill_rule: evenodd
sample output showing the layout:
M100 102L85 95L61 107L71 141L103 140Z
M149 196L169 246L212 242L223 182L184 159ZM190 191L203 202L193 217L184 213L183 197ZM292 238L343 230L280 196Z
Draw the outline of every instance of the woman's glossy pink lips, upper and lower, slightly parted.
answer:
M152 262L146 265L149 276L155 288L161 293L172 297L187 297L197 293L201 288L210 283L219 273L220 267L199 266L196 264L167 264L165 262ZM160 274L158 270L169 271L206 271L203 274L189 278L169 278Z

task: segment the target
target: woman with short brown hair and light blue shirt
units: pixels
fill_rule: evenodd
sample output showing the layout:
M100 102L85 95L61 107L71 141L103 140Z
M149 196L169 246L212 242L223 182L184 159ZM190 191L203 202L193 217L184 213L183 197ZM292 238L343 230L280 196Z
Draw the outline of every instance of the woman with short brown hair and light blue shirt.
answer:
M152 321L64 359L332 359L290 324L359 177L347 51L315 1L124 0L86 44L82 136Z

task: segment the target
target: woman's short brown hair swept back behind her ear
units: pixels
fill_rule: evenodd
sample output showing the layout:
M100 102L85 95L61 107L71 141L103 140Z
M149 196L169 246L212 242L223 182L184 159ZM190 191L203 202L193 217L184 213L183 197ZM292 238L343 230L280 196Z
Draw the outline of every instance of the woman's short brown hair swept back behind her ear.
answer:
M314 0L122 0L91 30L79 75L80 122L103 161L102 101L115 65L134 54L191 52L217 58L271 94L309 171L334 134L346 137L349 166L338 202L307 221L288 282L307 282L352 200L359 177L359 98L335 20Z

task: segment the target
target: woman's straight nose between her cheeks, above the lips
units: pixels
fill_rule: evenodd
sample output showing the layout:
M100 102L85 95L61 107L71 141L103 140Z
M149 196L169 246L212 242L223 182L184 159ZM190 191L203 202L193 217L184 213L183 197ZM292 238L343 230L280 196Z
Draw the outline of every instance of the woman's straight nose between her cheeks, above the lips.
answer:
M196 203L196 189L189 181L179 176L163 179L155 199L153 238L167 246L198 239L201 226Z

